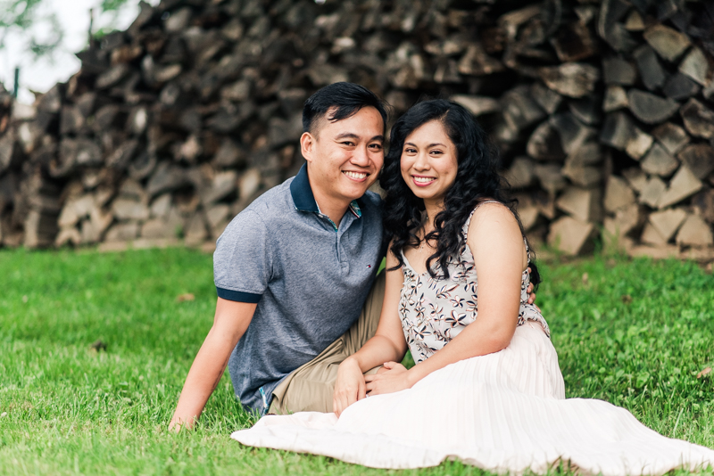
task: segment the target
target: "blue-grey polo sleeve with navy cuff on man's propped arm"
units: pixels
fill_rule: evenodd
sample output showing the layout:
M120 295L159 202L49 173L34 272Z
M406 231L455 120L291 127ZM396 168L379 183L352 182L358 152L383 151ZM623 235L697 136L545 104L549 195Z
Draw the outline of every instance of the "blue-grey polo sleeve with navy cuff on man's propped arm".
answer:
M261 217L244 210L228 224L213 253L213 282L224 300L256 303L268 289L270 234Z

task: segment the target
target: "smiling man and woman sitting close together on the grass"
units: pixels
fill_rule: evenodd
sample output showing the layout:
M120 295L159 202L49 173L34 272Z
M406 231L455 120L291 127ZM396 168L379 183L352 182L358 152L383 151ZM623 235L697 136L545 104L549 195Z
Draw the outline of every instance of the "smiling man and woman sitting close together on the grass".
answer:
M213 326L171 428L195 423L228 365L237 397L263 415L232 435L245 445L381 468L714 465L714 451L625 409L565 398L529 295L537 268L468 111L416 104L385 157L385 104L336 83L307 100L303 127L306 166L220 236ZM368 192L378 176L384 201Z

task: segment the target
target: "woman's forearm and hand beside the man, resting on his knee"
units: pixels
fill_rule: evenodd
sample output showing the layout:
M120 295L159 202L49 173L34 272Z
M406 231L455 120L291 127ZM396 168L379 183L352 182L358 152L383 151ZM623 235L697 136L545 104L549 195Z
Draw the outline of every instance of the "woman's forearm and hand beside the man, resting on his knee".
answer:
M386 269L398 264L394 254L386 255ZM333 394L333 409L339 416L347 406L365 396L363 373L389 361L401 361L407 351L402 323L399 319L399 299L403 284L402 269L385 271L385 299L382 304L382 314L374 337L369 339L361 349L347 357L340 364Z

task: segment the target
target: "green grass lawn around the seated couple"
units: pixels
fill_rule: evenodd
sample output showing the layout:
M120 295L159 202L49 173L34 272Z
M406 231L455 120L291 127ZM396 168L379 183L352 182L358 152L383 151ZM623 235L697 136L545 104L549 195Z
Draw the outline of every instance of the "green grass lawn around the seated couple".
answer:
M712 276L693 263L603 257L541 268L538 304L568 396L608 400L714 447L714 373L696 378L714 366ZM210 255L0 250L0 290L0 473L385 473L228 439L254 421L228 375L197 431L165 430L212 324ZM195 300L177 302L185 292ZM90 349L96 340L106 351ZM483 472L446 463L399 473Z

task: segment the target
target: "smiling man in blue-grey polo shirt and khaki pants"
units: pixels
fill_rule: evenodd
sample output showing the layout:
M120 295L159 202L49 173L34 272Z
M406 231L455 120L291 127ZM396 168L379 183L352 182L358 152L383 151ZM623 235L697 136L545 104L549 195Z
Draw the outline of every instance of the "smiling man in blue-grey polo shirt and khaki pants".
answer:
M337 367L374 335L384 298L380 201L367 189L385 127L386 104L362 86L336 83L305 102L307 163L217 242L213 325L170 428L193 426L226 365L241 403L260 414L333 410Z

